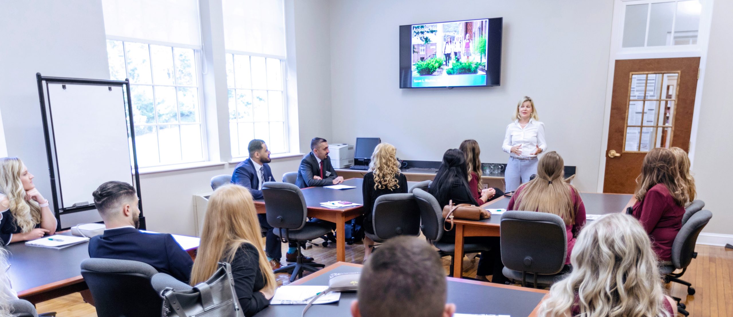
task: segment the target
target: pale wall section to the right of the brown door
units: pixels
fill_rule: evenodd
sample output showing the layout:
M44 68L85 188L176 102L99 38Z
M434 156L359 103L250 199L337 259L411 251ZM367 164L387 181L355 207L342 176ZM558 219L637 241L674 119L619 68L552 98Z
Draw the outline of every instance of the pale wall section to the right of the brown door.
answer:
M693 172L699 199L705 209L712 211L712 221L704 232L733 235L729 180L733 170L729 166L733 148L733 131L726 121L733 117L730 104L730 85L733 74L733 1L715 1L712 12L710 45L707 50L707 67L700 107L700 125L697 131ZM733 237L728 237L733 244Z

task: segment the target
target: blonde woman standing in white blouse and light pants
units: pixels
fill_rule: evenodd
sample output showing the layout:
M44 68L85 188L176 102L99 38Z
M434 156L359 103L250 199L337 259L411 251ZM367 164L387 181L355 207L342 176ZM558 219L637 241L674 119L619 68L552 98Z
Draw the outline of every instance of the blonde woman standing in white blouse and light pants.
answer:
M539 122L532 98L525 96L517 103L514 122L507 125L502 149L509 153L504 192L511 192L537 174L537 155L547 150L545 123Z

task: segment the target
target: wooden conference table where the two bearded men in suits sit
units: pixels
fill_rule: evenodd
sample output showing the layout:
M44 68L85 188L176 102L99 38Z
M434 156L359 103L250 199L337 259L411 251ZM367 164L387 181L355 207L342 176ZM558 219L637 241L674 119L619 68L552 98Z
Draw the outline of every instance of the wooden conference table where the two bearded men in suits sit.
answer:
M331 209L325 208L320 203L334 200L345 200L351 203L363 204L361 196L361 184L363 178L349 178L344 181L343 185L355 186L353 189L328 189L324 187L307 187L301 190L303 197L308 205L308 216L318 218L328 222L336 223L336 260L346 260L346 222L361 216L362 205ZM414 182L408 182L411 185ZM254 200L254 207L257 214L265 214L265 200Z

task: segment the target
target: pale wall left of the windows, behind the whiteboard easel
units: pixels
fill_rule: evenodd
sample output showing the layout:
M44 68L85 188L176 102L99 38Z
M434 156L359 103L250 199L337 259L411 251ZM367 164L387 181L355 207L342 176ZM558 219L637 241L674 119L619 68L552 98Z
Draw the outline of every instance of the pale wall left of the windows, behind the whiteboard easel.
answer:
M0 109L9 156L18 156L51 198L36 73L108 79L99 0L3 1Z

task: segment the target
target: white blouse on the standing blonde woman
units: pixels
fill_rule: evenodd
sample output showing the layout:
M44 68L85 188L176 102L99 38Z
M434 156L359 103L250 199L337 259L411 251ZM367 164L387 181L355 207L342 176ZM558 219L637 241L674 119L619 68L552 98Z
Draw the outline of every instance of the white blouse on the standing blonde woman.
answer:
M517 145L522 145L520 147L522 155L520 156L512 153L512 147ZM548 145L545 143L545 123L529 119L529 123L524 128L519 125L519 120L514 120L513 123L507 125L507 134L504 135L504 145L501 146L504 152L517 158L537 157L537 154L531 154L537 151L537 147L542 149L542 152L547 150Z

